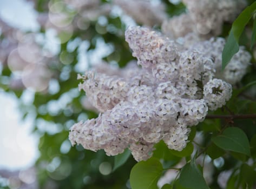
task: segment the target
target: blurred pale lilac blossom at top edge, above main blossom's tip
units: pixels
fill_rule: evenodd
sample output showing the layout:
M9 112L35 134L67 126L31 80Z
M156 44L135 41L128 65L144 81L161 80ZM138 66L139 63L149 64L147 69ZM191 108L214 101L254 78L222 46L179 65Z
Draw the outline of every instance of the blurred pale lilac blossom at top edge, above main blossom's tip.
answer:
M114 0L113 3L119 5L139 24L161 25L167 18L163 4L152 4L148 0Z

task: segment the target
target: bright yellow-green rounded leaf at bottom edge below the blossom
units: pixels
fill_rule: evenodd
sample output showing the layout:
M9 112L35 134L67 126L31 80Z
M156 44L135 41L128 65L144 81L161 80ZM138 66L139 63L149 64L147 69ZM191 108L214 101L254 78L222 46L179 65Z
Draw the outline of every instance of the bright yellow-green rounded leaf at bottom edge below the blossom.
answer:
M162 164L155 158L140 161L130 172L130 186L132 189L157 189L162 171Z

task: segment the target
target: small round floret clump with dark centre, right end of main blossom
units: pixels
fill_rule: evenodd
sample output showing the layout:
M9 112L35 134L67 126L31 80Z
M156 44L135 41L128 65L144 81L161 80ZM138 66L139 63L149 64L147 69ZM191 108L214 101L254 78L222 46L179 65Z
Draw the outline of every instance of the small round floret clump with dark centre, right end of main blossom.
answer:
M204 99L209 110L216 110L231 98L232 86L221 79L212 79L204 85Z

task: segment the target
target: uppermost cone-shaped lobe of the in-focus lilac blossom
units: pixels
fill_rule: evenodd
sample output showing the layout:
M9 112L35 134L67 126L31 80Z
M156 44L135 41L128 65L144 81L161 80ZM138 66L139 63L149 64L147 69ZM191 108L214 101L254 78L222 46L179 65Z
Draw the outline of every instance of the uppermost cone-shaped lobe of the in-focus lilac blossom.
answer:
M155 69L159 63L170 63L178 57L172 40L147 28L131 27L126 30L126 41L137 58L137 64L144 69Z

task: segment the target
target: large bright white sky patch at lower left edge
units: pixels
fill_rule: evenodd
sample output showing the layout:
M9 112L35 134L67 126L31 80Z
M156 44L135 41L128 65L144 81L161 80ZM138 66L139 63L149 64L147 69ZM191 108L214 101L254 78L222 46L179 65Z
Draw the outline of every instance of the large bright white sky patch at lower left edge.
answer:
M22 120L18 99L0 91L0 169L27 168L38 157L38 138L31 134L32 118Z

